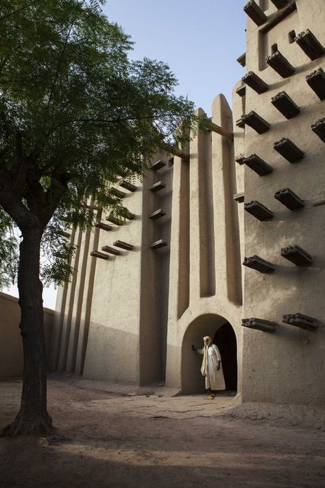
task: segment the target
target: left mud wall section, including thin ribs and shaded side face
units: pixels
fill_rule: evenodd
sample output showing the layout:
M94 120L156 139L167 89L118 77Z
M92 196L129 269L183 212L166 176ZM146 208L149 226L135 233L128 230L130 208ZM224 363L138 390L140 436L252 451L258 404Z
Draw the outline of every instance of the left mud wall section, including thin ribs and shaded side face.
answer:
M165 165L156 169L159 159ZM165 375L173 165L163 153L152 163L156 170L148 170L143 182L133 181L129 188L117 185L133 219L119 226L106 220L107 209L95 209L98 222L110 229L71 233L74 271L71 283L58 294L51 371L134 384ZM158 181L165 187L151 191ZM159 209L165 212L160 218L149 218ZM167 246L150 248L160 239ZM133 248L120 248L117 241ZM119 255L102 251L104 246ZM104 252L108 259L91 257L93 251Z

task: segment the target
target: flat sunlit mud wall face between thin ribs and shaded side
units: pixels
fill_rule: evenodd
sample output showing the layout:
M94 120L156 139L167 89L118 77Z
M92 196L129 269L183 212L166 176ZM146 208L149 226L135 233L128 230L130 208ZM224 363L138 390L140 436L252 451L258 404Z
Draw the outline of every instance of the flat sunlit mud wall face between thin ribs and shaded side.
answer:
M134 220L125 220L122 226L106 222L112 225L112 230L99 231L97 249L113 247L116 240L134 247L131 251L119 249L117 256L108 253L107 261L89 258L95 259L96 271L84 364L87 378L139 382L143 187L139 181L135 186L135 191L119 187L125 193L123 205L134 213ZM104 222L107 215L108 211L103 211Z

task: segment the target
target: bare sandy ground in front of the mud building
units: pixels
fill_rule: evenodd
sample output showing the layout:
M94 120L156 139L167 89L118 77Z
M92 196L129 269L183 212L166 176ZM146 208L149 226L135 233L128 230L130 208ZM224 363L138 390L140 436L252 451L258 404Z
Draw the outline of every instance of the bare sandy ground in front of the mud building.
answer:
M323 410L109 389L49 380L56 433L1 438L0 487L325 487ZM1 427L20 391L0 382Z

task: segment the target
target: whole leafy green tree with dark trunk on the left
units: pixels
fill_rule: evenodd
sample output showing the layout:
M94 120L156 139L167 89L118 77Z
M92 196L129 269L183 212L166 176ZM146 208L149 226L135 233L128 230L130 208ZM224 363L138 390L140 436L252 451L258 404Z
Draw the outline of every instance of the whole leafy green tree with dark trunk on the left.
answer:
M41 280L69 279L64 229L92 224L87 198L125 215L112 183L121 172L141 175L193 121L167 65L131 61L130 38L100 3L1 1L0 279L18 279L24 355L21 408L7 435L52 429ZM41 268L45 248L51 261Z

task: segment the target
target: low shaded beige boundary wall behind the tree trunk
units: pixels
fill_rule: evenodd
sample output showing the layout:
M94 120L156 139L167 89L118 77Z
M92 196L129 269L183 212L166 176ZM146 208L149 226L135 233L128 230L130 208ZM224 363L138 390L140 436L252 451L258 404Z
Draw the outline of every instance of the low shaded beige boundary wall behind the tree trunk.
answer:
M23 372L23 343L19 329L21 309L18 299L0 292L0 377L20 376ZM44 309L45 346L53 326L54 310Z

